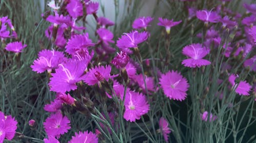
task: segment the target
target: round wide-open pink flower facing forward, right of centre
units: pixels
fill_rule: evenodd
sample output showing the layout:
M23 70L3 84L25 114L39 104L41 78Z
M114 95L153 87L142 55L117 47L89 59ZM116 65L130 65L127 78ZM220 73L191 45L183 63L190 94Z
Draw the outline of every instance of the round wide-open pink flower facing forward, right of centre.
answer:
M164 94L169 97L169 99L174 100L185 100L189 84L186 78L182 77L177 71L168 71L161 75L160 82L161 88Z

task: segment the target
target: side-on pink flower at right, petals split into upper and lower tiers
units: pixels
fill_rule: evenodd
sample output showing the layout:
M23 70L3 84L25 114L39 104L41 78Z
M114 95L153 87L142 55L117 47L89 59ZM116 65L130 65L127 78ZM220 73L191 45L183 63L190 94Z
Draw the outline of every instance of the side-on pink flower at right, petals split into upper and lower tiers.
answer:
M204 60L204 56L209 53L209 49L202 46L202 44L191 44L185 46L182 49L182 54L188 56L190 59L185 59L182 61L182 65L190 68L200 68L201 66L207 66L210 61Z

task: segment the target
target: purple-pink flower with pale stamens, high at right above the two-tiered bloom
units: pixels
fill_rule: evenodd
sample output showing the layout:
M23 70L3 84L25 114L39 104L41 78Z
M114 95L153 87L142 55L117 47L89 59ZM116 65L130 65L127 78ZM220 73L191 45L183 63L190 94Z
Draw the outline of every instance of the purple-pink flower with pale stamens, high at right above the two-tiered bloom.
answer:
M219 22L220 16L215 11L208 11L208 10L199 10L197 11L197 18L204 21L204 22L212 22L216 23Z

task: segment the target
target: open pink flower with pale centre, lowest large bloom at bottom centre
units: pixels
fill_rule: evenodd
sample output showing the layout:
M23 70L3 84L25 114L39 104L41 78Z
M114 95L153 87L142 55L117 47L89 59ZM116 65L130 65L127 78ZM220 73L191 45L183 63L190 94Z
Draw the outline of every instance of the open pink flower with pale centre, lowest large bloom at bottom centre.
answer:
M150 110L150 105L146 101L146 97L137 92L130 91L125 96L124 101L125 111L123 118L126 121L134 122L139 120L142 115Z

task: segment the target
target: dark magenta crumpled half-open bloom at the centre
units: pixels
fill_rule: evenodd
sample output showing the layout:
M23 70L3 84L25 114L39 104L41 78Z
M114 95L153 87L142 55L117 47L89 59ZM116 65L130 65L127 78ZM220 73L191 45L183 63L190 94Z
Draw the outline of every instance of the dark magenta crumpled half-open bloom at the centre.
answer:
M111 61L111 63L116 66L117 69L124 68L127 63L130 61L130 56L127 55L126 52L117 52L115 58Z

